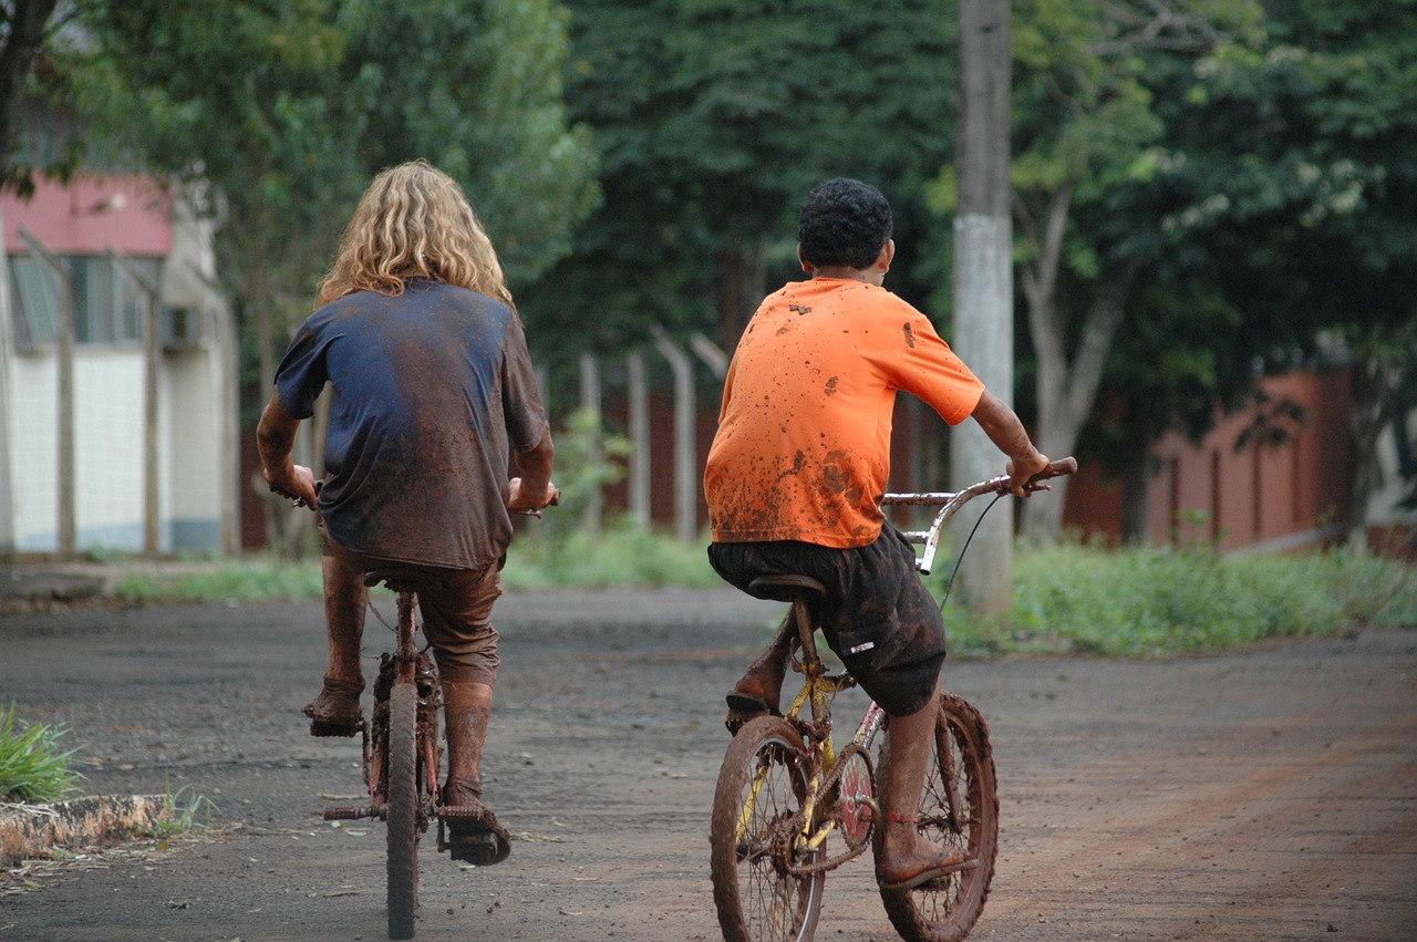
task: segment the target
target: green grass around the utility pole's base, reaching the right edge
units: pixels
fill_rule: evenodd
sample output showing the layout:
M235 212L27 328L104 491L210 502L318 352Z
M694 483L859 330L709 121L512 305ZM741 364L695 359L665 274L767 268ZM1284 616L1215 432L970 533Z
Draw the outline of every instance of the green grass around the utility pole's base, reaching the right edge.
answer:
M1345 551L1219 555L1083 545L1020 550L1013 611L971 623L951 609L964 652L1159 657L1230 650L1270 637L1417 625L1417 571Z

